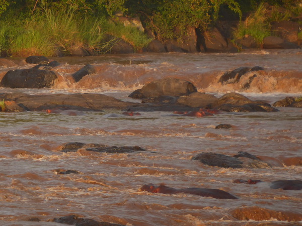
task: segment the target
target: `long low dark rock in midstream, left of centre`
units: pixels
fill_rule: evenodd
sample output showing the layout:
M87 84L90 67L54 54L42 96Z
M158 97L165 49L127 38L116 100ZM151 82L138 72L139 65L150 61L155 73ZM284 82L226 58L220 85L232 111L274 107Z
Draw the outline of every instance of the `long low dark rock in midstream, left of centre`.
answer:
M85 149L86 151L92 152L107 152L107 153L125 153L125 152L135 152L135 151L145 151L138 146L123 146L109 147L103 144L84 144L79 142L66 143L58 147L58 151L61 152L77 152L79 149Z

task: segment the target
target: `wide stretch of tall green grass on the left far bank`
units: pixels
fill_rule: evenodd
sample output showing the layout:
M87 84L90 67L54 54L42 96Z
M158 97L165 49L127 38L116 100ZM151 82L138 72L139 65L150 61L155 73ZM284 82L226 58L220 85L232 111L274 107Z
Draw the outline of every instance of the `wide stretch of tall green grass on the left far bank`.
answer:
M0 21L0 52L13 56L53 56L56 50L70 55L74 47L105 53L121 38L139 51L151 40L141 31L111 23L102 16L80 15L70 4L59 11L49 9L45 1L35 15L8 16ZM9 23L7 21L10 21ZM106 34L117 38L110 38Z

